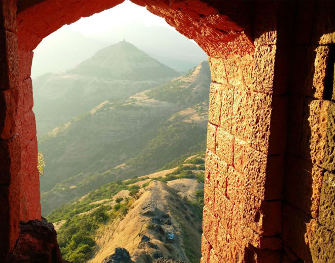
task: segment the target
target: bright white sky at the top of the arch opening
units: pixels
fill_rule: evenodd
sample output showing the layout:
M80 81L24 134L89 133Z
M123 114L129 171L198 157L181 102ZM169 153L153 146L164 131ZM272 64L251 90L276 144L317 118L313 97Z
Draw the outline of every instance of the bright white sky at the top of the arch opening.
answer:
M140 7L126 0L122 4L94 14L90 17L84 17L71 25L64 25L62 29L79 31L85 36L95 35L99 32L109 31L111 27L134 23L139 21L145 25L166 26L175 30L164 18L150 13L145 7Z

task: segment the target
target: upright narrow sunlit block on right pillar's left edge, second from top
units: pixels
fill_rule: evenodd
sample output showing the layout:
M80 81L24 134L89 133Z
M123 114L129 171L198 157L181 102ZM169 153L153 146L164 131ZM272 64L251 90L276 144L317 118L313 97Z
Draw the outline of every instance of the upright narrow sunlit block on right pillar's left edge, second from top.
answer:
M218 83L211 83L208 120L217 126L220 125L221 102L222 85Z

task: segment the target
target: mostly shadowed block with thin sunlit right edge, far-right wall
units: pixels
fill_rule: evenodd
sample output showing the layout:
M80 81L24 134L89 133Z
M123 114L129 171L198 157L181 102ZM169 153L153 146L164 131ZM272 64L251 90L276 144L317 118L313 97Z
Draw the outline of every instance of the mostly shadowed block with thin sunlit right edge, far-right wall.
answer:
M317 219L322 177L323 169L299 157L288 156L284 200Z

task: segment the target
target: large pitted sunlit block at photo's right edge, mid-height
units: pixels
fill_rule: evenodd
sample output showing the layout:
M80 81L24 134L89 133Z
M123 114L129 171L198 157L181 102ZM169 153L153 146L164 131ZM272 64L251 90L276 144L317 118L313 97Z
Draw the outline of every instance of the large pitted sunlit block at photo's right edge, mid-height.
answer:
M301 152L316 165L335 170L335 103L323 100L306 101Z

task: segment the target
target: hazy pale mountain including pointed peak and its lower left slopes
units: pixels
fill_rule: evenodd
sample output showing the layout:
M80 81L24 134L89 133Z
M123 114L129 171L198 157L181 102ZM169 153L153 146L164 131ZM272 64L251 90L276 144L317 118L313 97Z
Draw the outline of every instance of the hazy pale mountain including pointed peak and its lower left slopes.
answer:
M33 79L38 136L106 100L120 100L179 75L125 41L98 50L72 70Z

